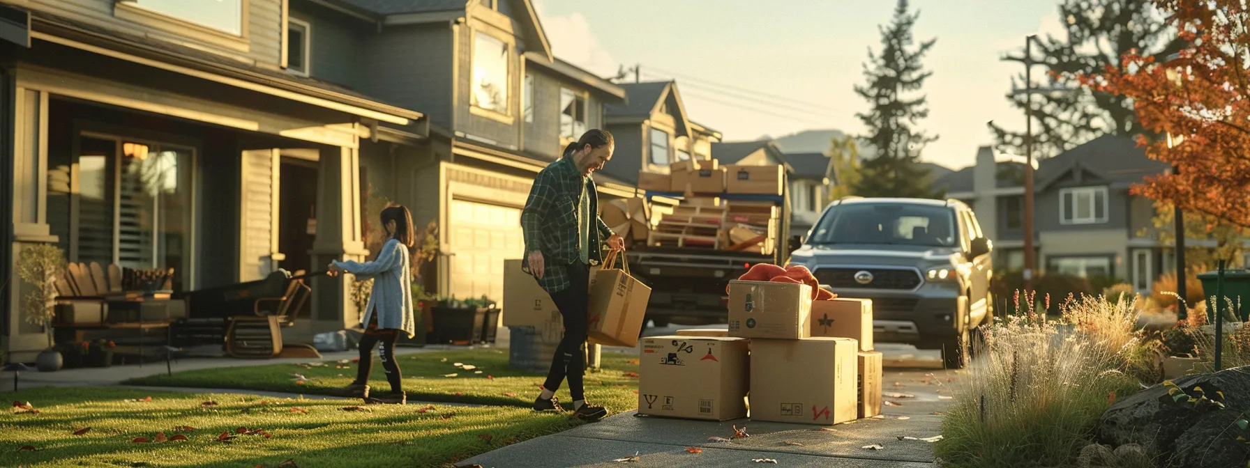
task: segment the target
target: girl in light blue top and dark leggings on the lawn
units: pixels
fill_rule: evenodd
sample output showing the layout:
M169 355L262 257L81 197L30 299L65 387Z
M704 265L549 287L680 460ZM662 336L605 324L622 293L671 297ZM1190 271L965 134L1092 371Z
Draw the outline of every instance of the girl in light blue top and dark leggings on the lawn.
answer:
M365 307L365 317L361 324L365 326L365 334L360 339L360 366L356 379L348 387L331 391L331 394L341 397L360 397L370 403L396 403L404 404L408 398L404 393L402 381L399 373L399 364L395 363L395 341L399 333L408 333L411 338L416 331L412 314L412 272L409 248L412 247L415 235L412 233L412 215L401 205L392 205L381 212L382 226L390 240L382 245L378 258L371 262L334 261L330 262L330 276L340 272L355 275L359 280L374 278L374 290L369 295L369 305ZM390 383L390 392L369 392L369 374L372 371L372 356L375 344L381 344L378 357L382 361L386 371L386 382Z

